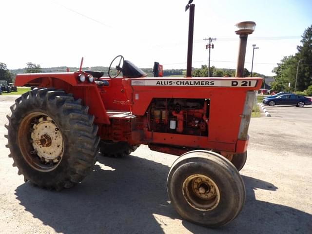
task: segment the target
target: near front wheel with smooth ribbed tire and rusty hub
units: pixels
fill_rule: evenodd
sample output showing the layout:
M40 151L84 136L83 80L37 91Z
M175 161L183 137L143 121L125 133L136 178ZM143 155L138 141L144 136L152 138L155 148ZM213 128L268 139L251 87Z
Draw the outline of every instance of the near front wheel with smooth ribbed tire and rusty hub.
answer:
M211 151L190 151L177 158L167 190L179 215L211 228L232 221L245 202L242 177L228 159Z

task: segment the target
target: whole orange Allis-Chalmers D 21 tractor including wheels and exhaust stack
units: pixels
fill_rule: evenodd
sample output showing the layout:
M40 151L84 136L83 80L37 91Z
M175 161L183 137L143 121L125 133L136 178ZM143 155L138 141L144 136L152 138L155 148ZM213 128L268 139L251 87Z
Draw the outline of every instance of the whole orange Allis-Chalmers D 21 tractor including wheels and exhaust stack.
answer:
M194 4L189 6L191 25ZM145 144L180 156L167 189L183 218L209 227L227 224L245 201L238 171L246 161L255 91L262 84L262 78L238 78L244 40L254 24L238 26L236 33L243 34L235 78L191 77L189 62L186 78L147 78L122 56L113 60L108 77L82 71L81 65L77 72L18 74L17 86L38 88L17 98L7 116L13 166L25 181L61 190L87 176L99 151L126 156Z

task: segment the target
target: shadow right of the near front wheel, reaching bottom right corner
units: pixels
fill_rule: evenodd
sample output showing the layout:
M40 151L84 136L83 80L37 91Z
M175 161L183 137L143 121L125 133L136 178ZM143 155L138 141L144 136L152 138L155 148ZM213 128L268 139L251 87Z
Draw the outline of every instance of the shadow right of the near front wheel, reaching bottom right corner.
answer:
M246 187L245 206L230 224L206 233L238 233L238 234L304 234L311 233L312 215L288 206L256 200L254 190L275 191L273 184L256 178L242 176ZM183 225L193 233L198 231L193 223L182 221Z

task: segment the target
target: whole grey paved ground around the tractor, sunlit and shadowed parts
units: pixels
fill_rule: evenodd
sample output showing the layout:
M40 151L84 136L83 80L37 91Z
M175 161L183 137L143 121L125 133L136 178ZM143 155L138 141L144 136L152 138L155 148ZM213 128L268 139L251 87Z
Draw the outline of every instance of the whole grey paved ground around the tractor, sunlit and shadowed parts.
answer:
M274 107L273 117L252 119L248 160L241 171L245 207L232 223L211 230L176 214L165 188L176 156L146 146L123 159L99 157L91 175L72 189L54 192L24 183L4 147L5 114L13 103L4 97L0 96L0 233L311 233L312 123L311 115L302 114L311 113L311 108Z

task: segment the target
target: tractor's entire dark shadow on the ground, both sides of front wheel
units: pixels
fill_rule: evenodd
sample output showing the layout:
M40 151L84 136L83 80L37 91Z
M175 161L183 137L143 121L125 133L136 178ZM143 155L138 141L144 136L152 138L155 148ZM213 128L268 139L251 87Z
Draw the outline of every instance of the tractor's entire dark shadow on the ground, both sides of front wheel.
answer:
M164 232L161 225L167 225L161 216L180 219L168 203L168 166L136 156L121 159L100 156L99 162L111 168L104 170L97 164L94 172L72 189L46 191L25 183L16 189L17 199L44 225L64 234L158 234ZM311 231L312 215L256 200L254 190L274 191L277 188L273 184L247 176L243 179L246 204L234 221L214 230L182 221L184 227L192 233L205 234Z

